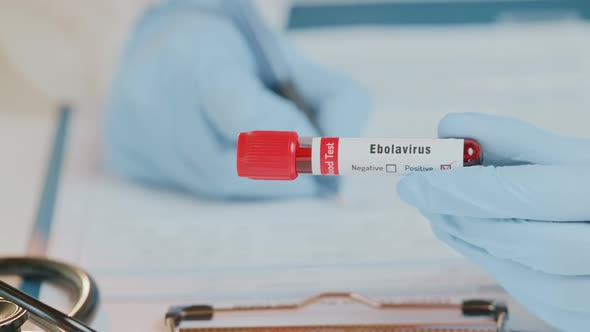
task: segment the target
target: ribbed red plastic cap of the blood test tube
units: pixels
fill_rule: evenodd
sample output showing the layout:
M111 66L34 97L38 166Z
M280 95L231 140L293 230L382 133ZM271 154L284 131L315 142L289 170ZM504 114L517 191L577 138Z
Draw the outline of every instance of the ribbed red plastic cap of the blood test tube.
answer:
M238 176L254 180L294 180L299 136L292 131L252 131L238 137Z

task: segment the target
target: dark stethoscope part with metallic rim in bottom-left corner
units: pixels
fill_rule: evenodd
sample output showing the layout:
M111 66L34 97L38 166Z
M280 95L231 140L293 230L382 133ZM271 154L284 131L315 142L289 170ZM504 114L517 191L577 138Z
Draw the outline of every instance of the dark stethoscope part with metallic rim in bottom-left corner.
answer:
M95 332L90 322L98 306L98 287L88 273L63 262L36 257L0 258L0 276L43 279L67 288L74 308L61 311L0 281L0 332L21 332L29 319L50 332Z

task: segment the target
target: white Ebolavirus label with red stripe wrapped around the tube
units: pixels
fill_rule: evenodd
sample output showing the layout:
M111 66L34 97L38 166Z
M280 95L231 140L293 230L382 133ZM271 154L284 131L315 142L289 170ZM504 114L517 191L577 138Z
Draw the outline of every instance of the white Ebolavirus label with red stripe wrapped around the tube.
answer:
M463 139L337 138L312 141L312 173L408 174L463 167Z

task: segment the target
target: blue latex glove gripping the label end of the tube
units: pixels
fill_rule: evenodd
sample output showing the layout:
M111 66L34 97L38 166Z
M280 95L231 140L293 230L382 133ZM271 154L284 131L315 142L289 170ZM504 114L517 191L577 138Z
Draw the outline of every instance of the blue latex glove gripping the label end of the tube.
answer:
M411 175L401 198L532 313L588 330L590 141L478 114L446 116L439 135L478 140L487 167Z

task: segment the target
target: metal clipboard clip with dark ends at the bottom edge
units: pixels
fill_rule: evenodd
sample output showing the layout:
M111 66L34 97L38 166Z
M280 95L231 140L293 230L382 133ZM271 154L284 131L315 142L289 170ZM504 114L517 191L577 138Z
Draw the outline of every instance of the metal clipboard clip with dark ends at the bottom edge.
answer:
M490 300L382 302L323 293L291 304L172 307L165 324L170 332L505 332L507 320L506 305Z

